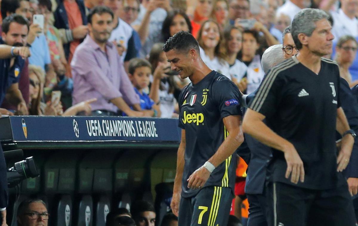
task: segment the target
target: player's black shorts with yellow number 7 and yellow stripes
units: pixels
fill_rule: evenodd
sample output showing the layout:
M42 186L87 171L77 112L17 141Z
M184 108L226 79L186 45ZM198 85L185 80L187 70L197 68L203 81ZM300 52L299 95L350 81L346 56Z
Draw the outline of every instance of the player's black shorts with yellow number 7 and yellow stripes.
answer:
M181 198L180 226L226 226L233 195L228 187L204 187L193 197Z

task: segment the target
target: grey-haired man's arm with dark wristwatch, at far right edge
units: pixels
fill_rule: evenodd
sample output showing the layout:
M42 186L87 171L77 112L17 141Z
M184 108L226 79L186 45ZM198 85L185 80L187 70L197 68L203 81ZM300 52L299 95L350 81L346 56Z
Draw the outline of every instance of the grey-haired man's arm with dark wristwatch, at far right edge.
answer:
M350 130L347 118L345 117L342 107L337 109L337 131L343 135L347 130ZM345 134L341 141L341 148L337 157L337 171L342 172L348 165L350 154L352 154L354 138L351 134Z

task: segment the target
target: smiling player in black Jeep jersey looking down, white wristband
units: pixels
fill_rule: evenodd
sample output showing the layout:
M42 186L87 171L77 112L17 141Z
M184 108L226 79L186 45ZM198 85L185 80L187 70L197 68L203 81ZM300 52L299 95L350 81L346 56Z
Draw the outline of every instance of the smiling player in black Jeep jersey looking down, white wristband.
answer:
M171 69L192 81L179 95L182 139L171 208L180 226L227 225L235 182L235 150L243 141L241 93L208 68L188 32L169 38L163 50Z

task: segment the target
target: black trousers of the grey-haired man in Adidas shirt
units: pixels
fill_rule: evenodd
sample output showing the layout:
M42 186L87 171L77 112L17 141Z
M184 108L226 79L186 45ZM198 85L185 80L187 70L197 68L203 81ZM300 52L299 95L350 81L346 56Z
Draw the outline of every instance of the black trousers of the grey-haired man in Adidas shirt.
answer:
M347 184L313 190L280 182L267 187L270 226L355 226L352 197Z

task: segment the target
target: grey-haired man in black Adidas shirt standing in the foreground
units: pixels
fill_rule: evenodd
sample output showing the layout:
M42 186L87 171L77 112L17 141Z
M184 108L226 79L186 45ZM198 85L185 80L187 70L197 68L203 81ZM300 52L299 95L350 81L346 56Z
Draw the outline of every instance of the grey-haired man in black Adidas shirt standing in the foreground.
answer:
M331 29L322 10L296 14L292 37L299 56L267 74L246 112L243 130L274 150L269 225L355 225L342 174L355 134L340 107L338 65L321 58L332 53ZM270 128L263 124L265 118ZM343 135L338 157L336 124Z

